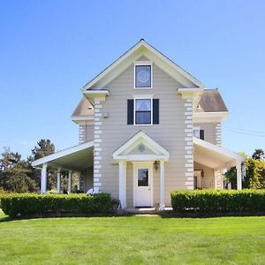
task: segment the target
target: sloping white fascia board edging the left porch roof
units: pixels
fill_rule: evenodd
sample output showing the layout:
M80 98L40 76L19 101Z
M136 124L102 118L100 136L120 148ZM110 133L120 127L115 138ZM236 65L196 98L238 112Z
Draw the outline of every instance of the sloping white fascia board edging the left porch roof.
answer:
M71 155L73 153L82 151L82 150L87 149L87 148L92 148L92 147L94 147L94 141L93 140L87 141L87 142L85 142L83 144L74 146L72 148L67 148L67 149L58 151L55 154L46 155L46 156L44 156L44 157L42 157L40 159L37 159L37 160L35 160L32 163L32 166L35 167L35 166L41 165L43 163L49 163L50 161L56 160L56 159L61 158L61 157L65 156L65 155Z

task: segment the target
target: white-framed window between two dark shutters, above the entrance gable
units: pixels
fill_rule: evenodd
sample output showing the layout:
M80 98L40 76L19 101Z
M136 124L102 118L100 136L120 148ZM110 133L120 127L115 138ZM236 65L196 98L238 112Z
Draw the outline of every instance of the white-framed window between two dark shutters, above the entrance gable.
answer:
M151 99L135 99L135 125L151 125L151 112Z

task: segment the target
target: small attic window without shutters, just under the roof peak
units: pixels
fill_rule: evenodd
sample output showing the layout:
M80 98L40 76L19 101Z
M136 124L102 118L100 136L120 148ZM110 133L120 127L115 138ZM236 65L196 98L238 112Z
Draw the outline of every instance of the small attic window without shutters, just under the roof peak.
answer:
M134 88L152 88L153 69L150 62L139 61L134 64Z

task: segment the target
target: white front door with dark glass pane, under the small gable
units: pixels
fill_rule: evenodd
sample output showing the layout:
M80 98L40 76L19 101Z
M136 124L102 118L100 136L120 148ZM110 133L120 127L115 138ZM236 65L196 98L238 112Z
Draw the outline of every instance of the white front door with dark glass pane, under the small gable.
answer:
M151 207L153 192L153 167L150 163L134 165L134 206Z

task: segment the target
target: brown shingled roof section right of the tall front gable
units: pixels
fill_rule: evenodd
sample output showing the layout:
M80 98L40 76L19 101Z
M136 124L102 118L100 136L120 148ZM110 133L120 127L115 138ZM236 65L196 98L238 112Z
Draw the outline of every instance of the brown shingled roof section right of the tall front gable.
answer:
M199 102L200 108L197 112L227 112L223 98L220 95L218 88L204 89Z

